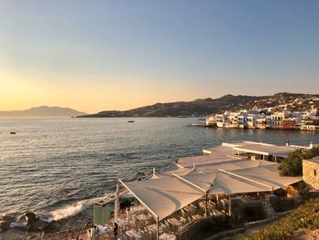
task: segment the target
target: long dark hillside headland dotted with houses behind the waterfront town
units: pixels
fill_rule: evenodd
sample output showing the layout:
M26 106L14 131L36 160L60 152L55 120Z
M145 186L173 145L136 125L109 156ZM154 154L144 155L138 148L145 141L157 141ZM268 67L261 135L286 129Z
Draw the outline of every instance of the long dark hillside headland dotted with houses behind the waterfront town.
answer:
M225 110L250 110L272 108L272 110L303 111L319 108L319 94L281 92L273 96L225 95L219 99L195 99L156 103L133 110L105 110L78 118L112 117L206 117Z

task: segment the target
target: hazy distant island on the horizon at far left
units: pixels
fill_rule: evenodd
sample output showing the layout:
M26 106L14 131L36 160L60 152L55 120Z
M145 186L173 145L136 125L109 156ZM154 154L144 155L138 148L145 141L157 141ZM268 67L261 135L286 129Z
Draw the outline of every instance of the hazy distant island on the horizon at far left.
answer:
M9 117L77 117L86 115L86 112L72 110L68 108L59 108L59 107L47 107L41 106L37 108L32 108L29 110L10 110L10 111L0 111L0 118L9 118Z

